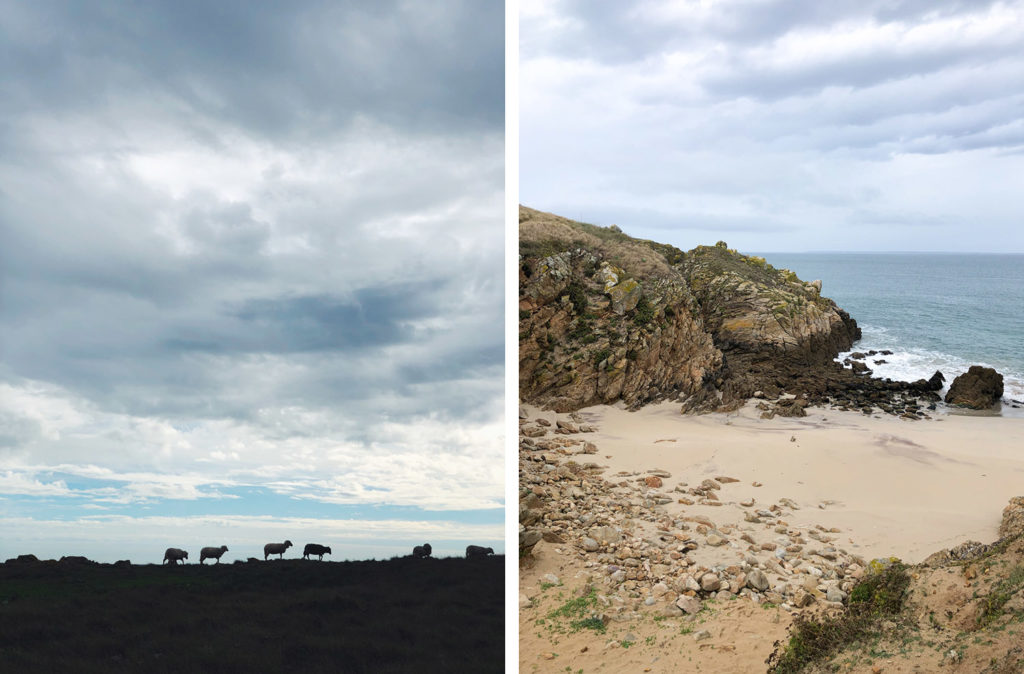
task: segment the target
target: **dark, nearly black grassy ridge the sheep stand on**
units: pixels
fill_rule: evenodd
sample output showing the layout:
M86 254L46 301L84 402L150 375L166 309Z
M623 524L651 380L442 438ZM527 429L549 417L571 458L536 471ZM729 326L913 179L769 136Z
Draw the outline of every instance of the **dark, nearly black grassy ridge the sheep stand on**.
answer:
M0 565L0 671L500 672L504 562Z

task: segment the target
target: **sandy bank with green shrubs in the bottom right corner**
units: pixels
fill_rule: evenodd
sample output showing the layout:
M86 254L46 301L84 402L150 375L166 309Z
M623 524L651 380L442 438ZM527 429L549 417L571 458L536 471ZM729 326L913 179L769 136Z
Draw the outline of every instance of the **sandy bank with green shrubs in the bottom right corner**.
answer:
M882 601L865 591L857 604L854 593L842 615L795 623L770 671L1024 672L1021 535L963 559L895 565L882 587L892 590Z

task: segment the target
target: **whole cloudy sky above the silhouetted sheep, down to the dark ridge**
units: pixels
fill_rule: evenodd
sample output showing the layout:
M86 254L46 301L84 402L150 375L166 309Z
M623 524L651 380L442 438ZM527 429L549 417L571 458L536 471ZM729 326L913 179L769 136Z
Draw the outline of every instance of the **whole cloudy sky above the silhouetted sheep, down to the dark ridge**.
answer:
M503 549L501 3L0 0L0 561Z

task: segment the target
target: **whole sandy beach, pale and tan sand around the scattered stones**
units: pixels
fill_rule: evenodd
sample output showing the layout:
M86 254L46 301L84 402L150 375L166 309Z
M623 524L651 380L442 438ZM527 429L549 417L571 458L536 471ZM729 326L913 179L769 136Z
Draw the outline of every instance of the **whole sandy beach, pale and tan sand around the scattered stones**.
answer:
M547 420L552 431L558 421L569 419L530 406L522 410L527 425ZM790 504L783 530L804 532L809 549L818 540L834 541L830 545L843 554L866 560L897 556L914 563L967 540L996 540L1004 507L1011 497L1024 494L1024 420L1019 418L938 415L909 421L812 408L804 418L761 419L753 402L729 414L684 416L678 405L662 404L637 412L590 407L574 417L590 432L548 437L590 443L596 453L579 455L581 446L568 445L568 456L549 455L547 460L571 458L601 466L608 481L603 511L615 512L615 504L622 504L622 517L629 518L633 536L639 537L630 539L634 545L666 536L657 521L693 525L705 518L727 533L731 542L722 547L697 535L699 545L686 553L691 568L740 563L746 554L740 534L754 536L751 542L782 540L771 538L777 534L771 524L744 519L759 508L778 507L773 504ZM561 440L553 441L557 446ZM656 490L670 497L658 501L665 515L638 516L645 511L636 505L644 489L627 486L642 485L652 471L669 475ZM715 490L719 505L701 505L707 500L691 495L708 478L720 483ZM572 489L562 487L555 498L566 498ZM650 582L625 593L620 589L615 598L614 586L606 580L608 562L595 563L595 554L581 552L569 540L545 540L522 567L521 671L565 671L566 666L608 672L763 671L773 642L784 638L795 615L786 605L759 606L745 599L729 601L732 597L723 601L719 593L697 616L675 618L671 602L652 598ZM813 553L806 558L820 565ZM788 582L802 578L797 573ZM566 631L564 624L553 631L558 622L552 612L591 587L613 617L607 631ZM668 613L663 613L665 605ZM701 630L707 638L698 636ZM886 666L885 671L904 671ZM872 670L858 666L850 671Z

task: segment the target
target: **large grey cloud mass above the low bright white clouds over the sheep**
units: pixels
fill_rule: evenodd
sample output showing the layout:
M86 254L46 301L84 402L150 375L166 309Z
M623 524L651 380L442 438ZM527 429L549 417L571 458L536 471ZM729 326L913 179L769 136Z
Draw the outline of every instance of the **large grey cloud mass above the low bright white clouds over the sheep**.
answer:
M493 418L503 16L0 0L3 378L175 419ZM204 159L210 184L160 173Z

